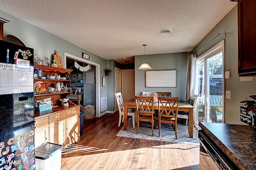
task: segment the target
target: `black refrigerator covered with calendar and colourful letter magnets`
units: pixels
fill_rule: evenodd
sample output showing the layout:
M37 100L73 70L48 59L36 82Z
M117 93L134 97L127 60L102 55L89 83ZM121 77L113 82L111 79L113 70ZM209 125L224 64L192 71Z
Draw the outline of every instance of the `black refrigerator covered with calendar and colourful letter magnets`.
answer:
M0 40L0 170L34 170L34 49Z

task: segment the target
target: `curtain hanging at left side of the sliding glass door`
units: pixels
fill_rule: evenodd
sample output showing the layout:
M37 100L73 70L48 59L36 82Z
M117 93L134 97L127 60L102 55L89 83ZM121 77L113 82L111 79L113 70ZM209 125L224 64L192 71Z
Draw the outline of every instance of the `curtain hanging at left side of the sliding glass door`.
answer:
M188 76L186 86L186 101L195 93L196 87L196 55L190 55L188 57Z

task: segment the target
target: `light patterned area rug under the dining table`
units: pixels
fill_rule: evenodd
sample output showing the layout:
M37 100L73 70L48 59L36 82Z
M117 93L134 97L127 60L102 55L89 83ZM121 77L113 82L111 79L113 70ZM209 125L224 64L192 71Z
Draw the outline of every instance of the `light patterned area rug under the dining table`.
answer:
M132 119L129 118L127 121L127 129L124 131L124 127L120 129L116 136L120 137L130 137L137 139L148 139L155 141L165 141L172 143L183 143L189 145L199 145L198 140L198 130L194 128L193 139L189 137L188 125L182 123L177 123L177 138L175 137L175 131L171 124L161 123L160 137L158 137L158 126L154 129L154 136L152 137L152 125L150 122L142 122L142 127L139 128L139 133L137 133L137 124L135 128L132 127Z

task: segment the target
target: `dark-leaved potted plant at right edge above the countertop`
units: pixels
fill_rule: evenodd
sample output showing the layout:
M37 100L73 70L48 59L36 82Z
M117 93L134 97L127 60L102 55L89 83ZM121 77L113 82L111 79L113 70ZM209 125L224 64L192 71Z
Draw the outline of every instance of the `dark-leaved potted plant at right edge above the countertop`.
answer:
M246 114L248 114L249 111L252 113L252 120L254 125L253 127L256 127L256 95L249 96L253 100L244 100L240 103L244 103L244 106L246 106Z

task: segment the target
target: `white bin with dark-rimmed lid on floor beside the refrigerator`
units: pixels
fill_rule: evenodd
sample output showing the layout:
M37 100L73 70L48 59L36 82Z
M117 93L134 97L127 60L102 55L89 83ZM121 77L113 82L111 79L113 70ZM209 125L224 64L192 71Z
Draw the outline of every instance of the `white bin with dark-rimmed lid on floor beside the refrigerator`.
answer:
M36 170L60 170L63 146L44 143L36 148Z

